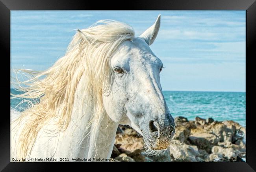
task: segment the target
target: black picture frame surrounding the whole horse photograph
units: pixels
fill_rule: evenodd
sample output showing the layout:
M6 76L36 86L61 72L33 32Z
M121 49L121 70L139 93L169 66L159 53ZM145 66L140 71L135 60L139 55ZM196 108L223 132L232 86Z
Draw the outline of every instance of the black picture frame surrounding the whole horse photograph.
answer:
M114 6L113 4L118 4ZM10 82L7 75L10 71L10 11L11 10L246 10L246 126L247 126L247 162L246 163L172 163L175 167L195 171L208 172L250 172L256 170L256 134L253 120L255 106L256 84L255 63L256 53L256 2L255 0L139 0L133 2L85 1L85 0L0 0L0 49L2 57L2 119L0 120L0 170L3 171L46 171L52 170L52 165L66 168L73 165L67 163L10 163L10 133L9 133L9 99ZM50 165L49 165L50 164ZM90 164L90 163L88 163ZM118 163L108 163L116 166ZM154 163L153 163L154 164ZM107 163L104 163L107 165ZM150 167L152 164L147 164ZM154 166L158 166L159 163ZM76 163L76 168L88 168L87 164ZM122 165L121 165L122 166ZM130 166L130 165L129 165ZM98 167L93 165L96 169ZM122 166L124 167L124 166ZM125 165L127 167L127 165ZM130 166L132 168L132 166ZM59 168L60 169L60 168ZM126 169L129 169L127 167ZM177 169L177 168L176 168ZM115 169L114 169L115 170Z

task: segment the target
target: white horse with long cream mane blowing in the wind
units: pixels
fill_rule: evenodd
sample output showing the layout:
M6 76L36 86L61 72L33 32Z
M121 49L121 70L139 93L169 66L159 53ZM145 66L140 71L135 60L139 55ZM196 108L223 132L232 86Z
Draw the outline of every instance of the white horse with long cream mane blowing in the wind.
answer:
M14 98L40 101L18 117L11 111L11 161L108 161L119 124L139 132L148 149L166 149L174 119L160 85L163 64L149 47L159 28L160 15L139 37L127 24L100 20L78 30L48 70L24 70L33 77Z

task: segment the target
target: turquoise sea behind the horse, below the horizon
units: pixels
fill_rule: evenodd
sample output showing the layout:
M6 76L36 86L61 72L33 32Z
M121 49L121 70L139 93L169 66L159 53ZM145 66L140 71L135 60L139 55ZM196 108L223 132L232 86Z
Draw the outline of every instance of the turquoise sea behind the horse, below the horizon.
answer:
M14 89L11 89L11 93L19 94ZM173 117L184 116L195 120L199 116L218 121L233 120L246 127L245 92L163 91L163 95ZM10 106L15 108L20 101L11 100Z

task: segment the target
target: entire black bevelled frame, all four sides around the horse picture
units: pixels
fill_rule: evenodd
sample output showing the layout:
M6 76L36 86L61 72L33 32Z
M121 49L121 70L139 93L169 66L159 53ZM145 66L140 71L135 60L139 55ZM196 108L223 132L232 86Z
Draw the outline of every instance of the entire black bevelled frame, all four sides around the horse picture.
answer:
M2 2L1 2L2 1ZM3 3L4 2L4 3ZM23 3L26 2L26 3ZM98 7L98 2L87 2L87 1L81 1L81 0L74 0L72 4L69 1L61 1L63 4L59 4L60 1L55 1L52 2L52 0L45 0L45 1L39 1L39 0L0 0L0 21L2 22L1 24L1 29L0 29L0 49L2 50L2 54L5 54L5 56L2 56L6 58L6 56L10 55L10 37L9 33L10 32L10 10L19 10L19 9L105 9L107 6L105 4L102 4L102 6ZM118 9L166 9L166 10L171 10L171 9L226 9L226 10L246 10L246 74L249 78L249 75L253 75L252 69L254 69L254 64L252 63L252 59L256 57L256 53L254 51L254 48L256 47L256 2L255 0L180 0L174 2L173 0L169 1L155 1L156 3L150 4L148 1L142 0L140 2L134 2L127 7L121 7ZM38 3L38 4L37 4ZM80 3L80 4L79 4ZM183 4L182 4L183 3ZM201 3L201 4L200 4ZM145 5L146 4L146 5ZM116 7L113 7L112 9L116 9ZM9 66L5 65L4 66L6 70L9 70ZM6 72L4 72L6 74ZM250 78L255 78L253 76L250 76ZM5 77L4 79L9 80L8 76L2 76ZM246 77L247 78L247 77ZM256 169L256 149L254 148L256 145L256 136L255 136L255 128L254 128L254 120L252 119L252 115L254 114L252 109L254 105L253 98L256 96L256 85L253 83L249 82L247 80L246 82L246 91L250 92L250 94L247 94L247 114L251 114L250 116L247 116L247 163L200 163L200 168L197 167L198 163L189 163L187 166L189 168L197 167L194 169L197 169L197 171L200 170L207 170L209 172L211 171L227 171L223 170L223 168L227 168L229 170L232 170L232 172L235 171L255 171L253 169ZM3 83L0 85L2 90L5 90L4 92L4 97L9 99L9 82L8 83ZM8 91L7 91L8 90ZM7 102L3 101L3 107L8 107ZM9 109L9 108L8 108ZM8 112L9 110L7 110ZM6 111L4 111L6 112ZM3 116L6 115L6 113L2 114ZM9 119L9 117L8 117ZM0 127L1 127L1 132L0 132L0 170L4 168L4 171L13 171L13 170L25 170L28 171L29 169L33 170L39 170L39 171L44 171L46 169L51 169L50 166L48 166L48 163L9 163L9 132L6 134L6 131L9 131L9 122L6 123L4 120L0 120ZM51 163L53 164L53 163ZM56 164L56 163L54 163ZM59 164L59 163L58 163ZM78 163L82 167L82 163ZM174 163L178 165L177 163ZM106 164L105 164L106 165ZM61 166L65 167L63 163L61 163ZM150 165L149 165L150 166ZM180 166L180 165L178 165ZM186 166L186 165L185 165ZM216 168L214 168L216 167ZM223 167L223 168L222 168ZM222 170L220 170L222 169Z

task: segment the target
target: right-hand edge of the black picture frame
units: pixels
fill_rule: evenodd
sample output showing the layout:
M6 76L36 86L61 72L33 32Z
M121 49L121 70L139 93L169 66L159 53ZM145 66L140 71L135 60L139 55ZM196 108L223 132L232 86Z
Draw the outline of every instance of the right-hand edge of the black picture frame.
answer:
M246 144L246 156L247 164L254 170L256 169L256 135L255 135L255 122L253 119L255 107L254 101L256 96L256 84L251 82L252 78L255 78L254 64L256 57L256 1L250 5L246 10L246 132L247 132L247 144ZM252 76L251 76L252 75ZM249 79L250 78L250 79Z

